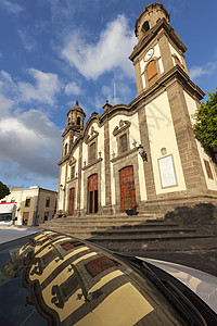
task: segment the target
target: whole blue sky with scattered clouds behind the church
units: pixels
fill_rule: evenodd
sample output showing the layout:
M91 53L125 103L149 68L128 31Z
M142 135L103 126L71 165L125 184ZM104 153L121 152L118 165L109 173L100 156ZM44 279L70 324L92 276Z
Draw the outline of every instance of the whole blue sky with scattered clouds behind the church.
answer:
M193 82L217 86L217 1L165 0ZM135 22L151 1L0 0L0 180L58 188L62 131L75 101L103 112L136 97L128 60Z

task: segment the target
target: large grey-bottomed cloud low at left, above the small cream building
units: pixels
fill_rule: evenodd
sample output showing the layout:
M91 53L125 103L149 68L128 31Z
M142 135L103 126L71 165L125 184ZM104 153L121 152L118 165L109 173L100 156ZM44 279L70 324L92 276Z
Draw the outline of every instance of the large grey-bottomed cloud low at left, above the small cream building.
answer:
M15 164L14 175L58 177L61 147L61 130L39 110L0 120L1 175Z

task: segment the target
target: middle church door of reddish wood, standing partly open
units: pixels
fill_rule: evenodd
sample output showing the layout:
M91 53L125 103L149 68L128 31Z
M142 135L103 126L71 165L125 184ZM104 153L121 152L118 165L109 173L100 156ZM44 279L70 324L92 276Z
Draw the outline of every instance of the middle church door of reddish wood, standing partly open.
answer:
M98 174L88 178L88 213L98 212Z

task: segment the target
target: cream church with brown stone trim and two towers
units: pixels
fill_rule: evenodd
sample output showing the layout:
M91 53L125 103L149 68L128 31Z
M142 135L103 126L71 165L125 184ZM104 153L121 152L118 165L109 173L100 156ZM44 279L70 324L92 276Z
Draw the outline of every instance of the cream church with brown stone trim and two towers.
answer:
M161 216L216 204L217 168L192 129L204 92L189 76L187 47L159 2L144 8L135 33L136 99L106 101L86 124L78 101L67 113L58 211L69 216L122 214L132 203L139 214Z

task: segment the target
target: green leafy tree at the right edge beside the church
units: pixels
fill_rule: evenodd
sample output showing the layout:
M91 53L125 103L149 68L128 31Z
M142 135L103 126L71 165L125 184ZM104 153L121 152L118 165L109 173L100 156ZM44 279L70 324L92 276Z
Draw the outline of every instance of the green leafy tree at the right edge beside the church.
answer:
M208 100L193 114L194 135L206 150L217 147L217 87L215 90L208 92Z

